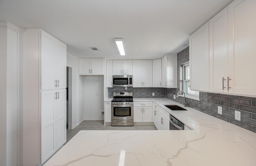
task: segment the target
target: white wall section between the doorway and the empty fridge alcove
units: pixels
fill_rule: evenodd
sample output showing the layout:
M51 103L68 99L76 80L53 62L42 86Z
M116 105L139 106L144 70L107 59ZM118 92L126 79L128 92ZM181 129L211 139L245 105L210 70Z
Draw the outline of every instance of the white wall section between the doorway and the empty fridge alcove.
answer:
M79 125L79 76L78 76L78 58L67 53L67 66L72 68L72 129ZM69 87L70 88L70 87ZM70 121L69 121L70 123Z

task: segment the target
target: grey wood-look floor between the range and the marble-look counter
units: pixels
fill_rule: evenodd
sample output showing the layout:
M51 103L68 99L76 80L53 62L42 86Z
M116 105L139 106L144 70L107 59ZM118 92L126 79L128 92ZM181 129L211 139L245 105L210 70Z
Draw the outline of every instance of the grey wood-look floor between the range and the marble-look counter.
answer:
M80 130L157 130L154 125L104 126L104 121L82 121L72 130L67 129L67 142Z

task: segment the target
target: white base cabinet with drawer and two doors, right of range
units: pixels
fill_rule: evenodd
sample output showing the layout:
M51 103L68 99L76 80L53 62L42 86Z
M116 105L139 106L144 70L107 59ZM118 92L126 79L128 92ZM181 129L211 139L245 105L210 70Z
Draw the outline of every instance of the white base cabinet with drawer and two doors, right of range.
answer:
M134 122L153 122L152 121L152 102L134 102L133 121Z

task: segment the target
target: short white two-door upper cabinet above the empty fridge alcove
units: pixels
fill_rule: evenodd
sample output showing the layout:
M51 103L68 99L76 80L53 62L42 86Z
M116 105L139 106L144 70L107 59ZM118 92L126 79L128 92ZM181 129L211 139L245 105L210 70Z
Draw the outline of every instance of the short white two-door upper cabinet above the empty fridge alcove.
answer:
M104 59L79 59L79 75L104 75Z

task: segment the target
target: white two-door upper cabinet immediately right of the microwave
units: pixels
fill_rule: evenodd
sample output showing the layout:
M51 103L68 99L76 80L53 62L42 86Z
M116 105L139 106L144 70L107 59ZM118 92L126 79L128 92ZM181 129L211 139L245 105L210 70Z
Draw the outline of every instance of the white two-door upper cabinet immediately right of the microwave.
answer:
M152 60L132 62L133 87L152 87Z

